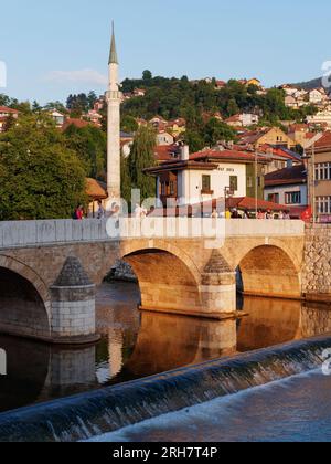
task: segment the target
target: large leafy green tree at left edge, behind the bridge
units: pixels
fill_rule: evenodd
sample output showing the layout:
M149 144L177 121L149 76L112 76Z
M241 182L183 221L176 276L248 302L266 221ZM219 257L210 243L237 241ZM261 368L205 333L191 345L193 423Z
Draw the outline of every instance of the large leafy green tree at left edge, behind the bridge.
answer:
M71 218L85 172L45 115L21 116L0 137L0 220Z

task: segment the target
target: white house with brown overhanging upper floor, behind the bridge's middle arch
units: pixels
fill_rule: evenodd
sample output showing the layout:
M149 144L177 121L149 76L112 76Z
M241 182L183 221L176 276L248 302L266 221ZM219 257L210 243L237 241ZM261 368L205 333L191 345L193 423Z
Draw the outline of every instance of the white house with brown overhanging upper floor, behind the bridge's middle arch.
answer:
M157 197L163 204L169 199L195 204L227 194L255 197L256 190L263 199L266 162L263 157L235 150L214 149L190 156L189 147L182 147L180 159L149 168L146 173L157 178Z

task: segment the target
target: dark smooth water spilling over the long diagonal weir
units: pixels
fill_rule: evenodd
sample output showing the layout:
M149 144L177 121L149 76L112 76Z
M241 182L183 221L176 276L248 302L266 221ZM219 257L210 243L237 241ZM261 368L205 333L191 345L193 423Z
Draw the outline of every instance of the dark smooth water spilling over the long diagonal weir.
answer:
M331 336L178 369L0 414L1 442L90 439L322 366Z

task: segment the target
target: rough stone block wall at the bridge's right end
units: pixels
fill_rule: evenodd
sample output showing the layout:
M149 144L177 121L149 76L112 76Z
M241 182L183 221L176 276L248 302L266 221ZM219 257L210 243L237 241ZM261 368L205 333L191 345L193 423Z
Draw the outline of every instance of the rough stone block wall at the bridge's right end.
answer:
M306 229L302 293L308 299L331 303L331 224Z

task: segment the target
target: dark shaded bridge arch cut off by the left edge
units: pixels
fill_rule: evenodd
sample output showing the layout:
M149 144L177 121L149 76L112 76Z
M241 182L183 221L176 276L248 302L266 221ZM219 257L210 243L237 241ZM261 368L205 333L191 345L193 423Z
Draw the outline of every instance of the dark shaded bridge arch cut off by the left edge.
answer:
M0 333L50 338L51 303L38 274L10 256L0 256Z

